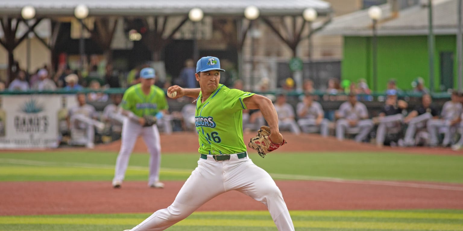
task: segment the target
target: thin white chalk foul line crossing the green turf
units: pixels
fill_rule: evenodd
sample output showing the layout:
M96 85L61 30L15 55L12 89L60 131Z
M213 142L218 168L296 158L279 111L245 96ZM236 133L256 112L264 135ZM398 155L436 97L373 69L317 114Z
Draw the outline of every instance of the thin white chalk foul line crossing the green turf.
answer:
M80 167L80 168L89 168L89 169L114 169L114 165L109 165L109 164L49 162L49 161L9 159L9 158L0 158L0 163L25 164L25 165L34 165L34 166L60 166L60 167L67 166L67 167ZM147 167L142 167L142 166L129 166L128 169L143 170L143 171L148 170ZM192 170L187 170L187 169L173 169L173 168L161 168L161 170L166 171L166 172L181 172L181 173L191 173L192 171ZM386 186L396 186L396 187L430 188L430 189L463 191L463 186L452 186L452 185L442 185L442 184L432 184L432 183L352 180L352 179L335 178L335 177L306 176L306 175L292 175L292 174L278 174L278 173L270 173L270 176L275 177L275 178L280 178L280 179L288 179L288 180L310 180L310 181L372 184L372 185L386 185Z

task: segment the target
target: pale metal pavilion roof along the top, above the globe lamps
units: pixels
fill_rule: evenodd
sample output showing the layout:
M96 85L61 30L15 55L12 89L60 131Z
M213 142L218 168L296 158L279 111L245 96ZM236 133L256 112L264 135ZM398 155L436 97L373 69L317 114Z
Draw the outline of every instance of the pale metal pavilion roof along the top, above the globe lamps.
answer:
M0 15L20 16L24 6L34 6L37 16L73 15L75 6L88 6L92 16L181 15L199 7L207 15L242 16L246 6L254 5L263 16L301 15L313 7L320 14L332 12L323 0L12 0L0 1Z

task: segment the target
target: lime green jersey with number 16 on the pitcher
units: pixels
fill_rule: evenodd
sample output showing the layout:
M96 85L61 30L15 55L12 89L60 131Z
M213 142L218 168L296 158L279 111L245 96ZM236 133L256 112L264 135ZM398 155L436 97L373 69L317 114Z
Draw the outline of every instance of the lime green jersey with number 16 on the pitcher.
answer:
M245 152L243 141L243 99L254 93L230 89L219 84L209 98L196 102L195 126L199 135L199 152L233 154Z

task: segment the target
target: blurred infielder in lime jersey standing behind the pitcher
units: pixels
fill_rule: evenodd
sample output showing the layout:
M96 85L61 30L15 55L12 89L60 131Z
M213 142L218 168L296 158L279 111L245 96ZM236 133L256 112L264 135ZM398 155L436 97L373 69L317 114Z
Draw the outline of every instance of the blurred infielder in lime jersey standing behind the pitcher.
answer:
M125 119L122 125L122 144L116 160L116 170L113 187L120 188L124 180L125 170L129 164L130 154L139 135L150 152L150 176L148 186L163 188L159 182L159 168L161 165L161 142L156 125L147 124L146 116L163 117L169 106L164 91L154 85L155 71L147 67L140 71L141 83L129 87L122 98L121 109Z

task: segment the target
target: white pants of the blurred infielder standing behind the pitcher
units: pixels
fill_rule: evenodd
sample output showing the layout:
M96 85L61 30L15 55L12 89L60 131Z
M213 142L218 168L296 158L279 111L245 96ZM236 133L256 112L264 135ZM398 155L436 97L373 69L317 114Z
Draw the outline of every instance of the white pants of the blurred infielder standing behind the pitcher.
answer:
M113 182L122 182L124 180L125 170L127 170L130 154L132 153L133 146L135 146L138 135L143 136L143 140L148 147L148 152L150 152L150 176L148 178L148 184L150 185L159 181L159 169L161 166L161 141L159 140L159 131L157 130L157 127L155 125L151 127L142 127L140 124L131 121L129 118L125 118L122 125L122 144L116 160L116 170Z

